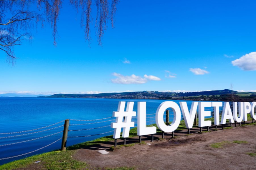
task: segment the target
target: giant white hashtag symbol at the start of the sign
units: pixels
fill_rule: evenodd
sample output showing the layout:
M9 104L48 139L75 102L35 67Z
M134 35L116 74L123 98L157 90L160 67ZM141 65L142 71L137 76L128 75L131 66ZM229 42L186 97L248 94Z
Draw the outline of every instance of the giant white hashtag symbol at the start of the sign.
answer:
M122 128L122 137L129 137L130 128L134 127L134 122L132 122L132 116L136 116L136 112L132 111L133 104L134 102L127 102L126 111L124 111L125 101L120 101L118 104L117 112L113 112L113 116L116 117L116 122L111 123L111 128L114 128L113 138L120 138Z

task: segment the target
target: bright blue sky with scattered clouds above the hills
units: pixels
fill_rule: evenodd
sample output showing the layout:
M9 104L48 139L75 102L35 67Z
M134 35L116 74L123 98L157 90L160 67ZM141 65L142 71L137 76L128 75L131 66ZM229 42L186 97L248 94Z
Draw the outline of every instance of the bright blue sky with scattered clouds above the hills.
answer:
M255 6L252 0L120 0L115 28L108 23L101 47L93 22L89 47L80 15L64 3L57 47L46 25L15 48L14 67L0 51L0 92L204 91L231 83L256 91Z

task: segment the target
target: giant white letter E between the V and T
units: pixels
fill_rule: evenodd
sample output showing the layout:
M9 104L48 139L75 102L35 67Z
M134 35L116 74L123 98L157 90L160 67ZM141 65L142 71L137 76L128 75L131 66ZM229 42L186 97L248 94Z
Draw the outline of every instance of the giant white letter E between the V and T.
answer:
M205 111L204 107L211 107L211 102L199 102L199 108L198 108L198 126L199 127L205 127L205 126L211 126L211 121L205 121L204 117L211 116L211 111Z

